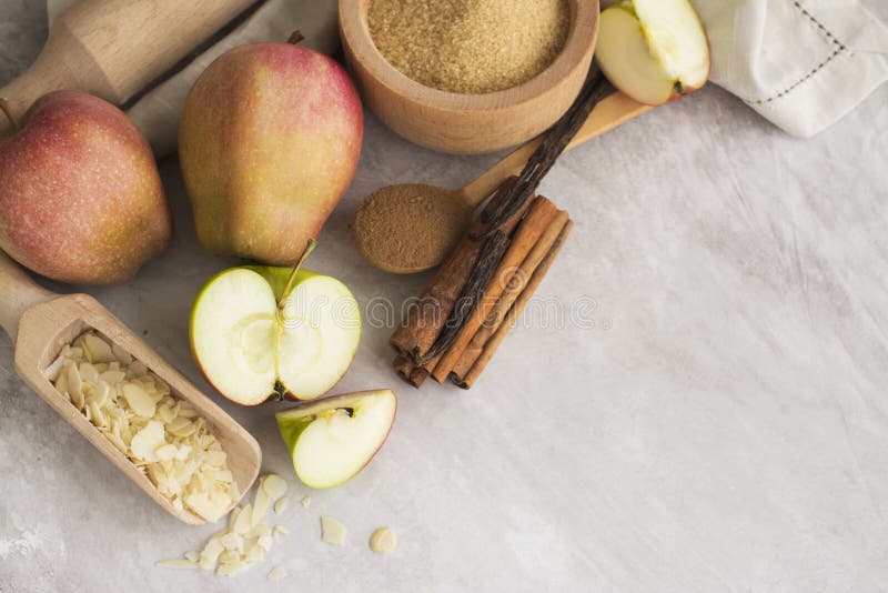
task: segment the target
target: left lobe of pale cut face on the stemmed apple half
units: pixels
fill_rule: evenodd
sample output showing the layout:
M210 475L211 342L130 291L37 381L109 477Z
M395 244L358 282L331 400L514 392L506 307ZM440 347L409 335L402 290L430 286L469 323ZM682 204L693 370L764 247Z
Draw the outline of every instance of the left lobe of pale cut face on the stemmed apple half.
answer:
M274 392L276 313L269 283L245 268L218 274L198 295L192 351L206 380L238 403L256 405Z

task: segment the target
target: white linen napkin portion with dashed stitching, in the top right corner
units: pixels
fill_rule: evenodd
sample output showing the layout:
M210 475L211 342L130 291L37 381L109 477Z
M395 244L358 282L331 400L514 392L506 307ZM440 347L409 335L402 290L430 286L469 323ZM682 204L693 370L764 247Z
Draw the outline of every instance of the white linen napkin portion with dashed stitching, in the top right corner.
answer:
M692 3L710 80L793 135L823 131L888 80L888 28L857 0Z

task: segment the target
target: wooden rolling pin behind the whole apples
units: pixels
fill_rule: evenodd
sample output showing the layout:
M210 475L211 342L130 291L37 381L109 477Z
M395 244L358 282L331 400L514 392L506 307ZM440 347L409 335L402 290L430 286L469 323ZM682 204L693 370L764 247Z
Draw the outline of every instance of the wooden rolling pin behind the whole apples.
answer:
M121 104L255 0L81 0L52 23L33 66L0 97L20 120L41 96L74 89ZM0 118L0 135L11 124Z

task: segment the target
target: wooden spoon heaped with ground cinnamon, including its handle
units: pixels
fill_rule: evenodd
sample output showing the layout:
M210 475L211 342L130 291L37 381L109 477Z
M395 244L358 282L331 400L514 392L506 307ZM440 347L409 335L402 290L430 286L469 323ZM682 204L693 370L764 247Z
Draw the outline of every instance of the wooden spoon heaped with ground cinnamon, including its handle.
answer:
M614 93L589 113L567 150L650 109L623 93ZM400 184L375 191L364 199L354 215L352 237L357 251L373 267L396 274L438 265L465 234L475 208L508 175L519 173L541 142L542 138L527 142L458 190ZM422 241L423 249L405 250L411 245L401 245L395 238Z

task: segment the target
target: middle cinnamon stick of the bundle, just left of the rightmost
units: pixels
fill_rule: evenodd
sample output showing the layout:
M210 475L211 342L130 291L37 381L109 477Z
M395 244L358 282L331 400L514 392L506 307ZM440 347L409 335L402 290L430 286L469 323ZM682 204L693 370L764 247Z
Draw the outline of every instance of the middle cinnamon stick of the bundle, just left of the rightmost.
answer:
M472 336L475 335L484 319L495 306L496 301L506 288L508 279L512 278L515 270L539 241L539 238L552 223L557 212L558 209L555 208L555 204L542 195L531 202L527 215L518 224L508 250L500 260L496 271L490 277L487 285L483 289L481 301L475 304L471 315L458 330L455 340L452 344L448 344L447 350L443 352L441 360L435 365L432 372L432 378L435 381L443 382L447 379Z

